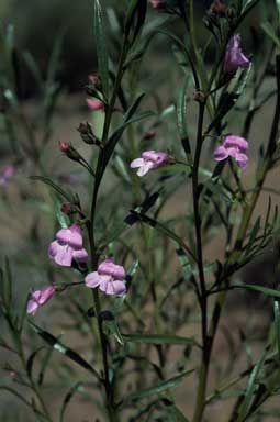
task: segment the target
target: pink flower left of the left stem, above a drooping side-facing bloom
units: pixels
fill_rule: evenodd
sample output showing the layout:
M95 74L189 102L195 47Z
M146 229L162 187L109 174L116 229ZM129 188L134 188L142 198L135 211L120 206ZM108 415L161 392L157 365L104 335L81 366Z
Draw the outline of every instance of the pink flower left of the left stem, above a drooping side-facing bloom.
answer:
M60 229L48 247L48 256L63 267L70 267L74 259L87 263L88 253L82 248L81 227L72 224L69 229Z

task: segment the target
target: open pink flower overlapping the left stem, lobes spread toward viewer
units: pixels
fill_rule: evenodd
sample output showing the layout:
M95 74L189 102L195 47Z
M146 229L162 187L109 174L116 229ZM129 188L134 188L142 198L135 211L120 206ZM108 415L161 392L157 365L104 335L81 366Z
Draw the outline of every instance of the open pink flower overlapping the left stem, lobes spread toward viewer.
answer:
M85 281L91 289L99 287L107 295L123 296L126 292L124 277L124 268L107 258L99 265L97 271L87 275Z

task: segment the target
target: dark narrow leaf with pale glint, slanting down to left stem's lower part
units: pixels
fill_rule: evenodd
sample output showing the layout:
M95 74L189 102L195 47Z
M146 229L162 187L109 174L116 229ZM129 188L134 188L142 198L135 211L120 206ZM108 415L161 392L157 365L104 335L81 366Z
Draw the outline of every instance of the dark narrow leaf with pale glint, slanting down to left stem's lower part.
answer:
M87 360L85 360L83 357L81 357L77 352L65 346L57 337L55 337L53 334L48 333L47 331L42 330L40 326L35 325L32 321L29 321L29 323L31 327L35 331L35 333L38 334L40 337L44 340L44 342L47 343L51 347L61 353L63 355L67 356L70 360L75 362L77 365L81 366L83 369L89 370L99 379L98 371Z

